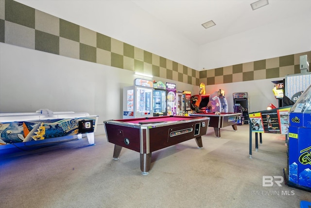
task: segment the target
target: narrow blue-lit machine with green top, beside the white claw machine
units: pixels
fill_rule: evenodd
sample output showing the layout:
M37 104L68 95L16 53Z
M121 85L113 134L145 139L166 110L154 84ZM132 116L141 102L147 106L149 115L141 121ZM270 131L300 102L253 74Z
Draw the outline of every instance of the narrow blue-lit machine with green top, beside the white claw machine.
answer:
M167 115L166 86L163 82L154 83L154 116Z

